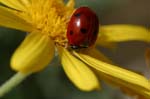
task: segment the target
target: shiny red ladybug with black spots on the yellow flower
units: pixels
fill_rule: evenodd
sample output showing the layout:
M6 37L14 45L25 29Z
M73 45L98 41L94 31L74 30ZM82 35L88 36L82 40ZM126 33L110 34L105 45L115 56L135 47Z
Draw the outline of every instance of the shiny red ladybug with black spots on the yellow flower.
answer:
M80 7L71 16L67 27L67 39L72 49L94 45L99 30L97 15L88 7Z

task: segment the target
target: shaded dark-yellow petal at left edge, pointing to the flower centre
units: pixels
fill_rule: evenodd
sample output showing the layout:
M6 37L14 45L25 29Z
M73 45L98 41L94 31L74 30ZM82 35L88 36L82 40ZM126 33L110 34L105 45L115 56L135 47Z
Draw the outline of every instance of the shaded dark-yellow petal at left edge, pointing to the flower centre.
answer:
M22 31L31 31L33 26L17 16L11 10L0 7L0 26L14 28Z

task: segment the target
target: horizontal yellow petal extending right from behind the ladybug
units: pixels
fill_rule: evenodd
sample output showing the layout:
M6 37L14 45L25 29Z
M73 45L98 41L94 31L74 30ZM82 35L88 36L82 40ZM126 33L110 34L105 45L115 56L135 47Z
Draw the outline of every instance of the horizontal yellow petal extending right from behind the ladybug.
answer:
M150 42L148 29L135 25L105 25L100 27L98 39L102 42Z

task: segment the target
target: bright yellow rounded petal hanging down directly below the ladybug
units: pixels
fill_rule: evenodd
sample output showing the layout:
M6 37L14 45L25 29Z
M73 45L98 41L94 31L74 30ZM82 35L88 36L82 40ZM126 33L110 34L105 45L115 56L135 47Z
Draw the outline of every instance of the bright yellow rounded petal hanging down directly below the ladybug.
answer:
M59 48L61 63L70 80L83 91L99 89L95 74L83 62L72 56L66 49Z

